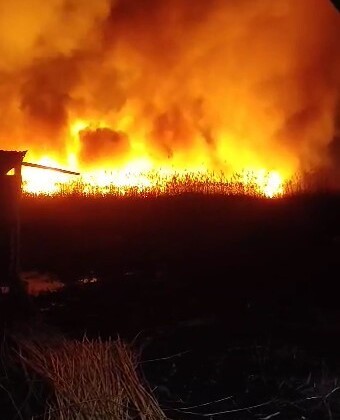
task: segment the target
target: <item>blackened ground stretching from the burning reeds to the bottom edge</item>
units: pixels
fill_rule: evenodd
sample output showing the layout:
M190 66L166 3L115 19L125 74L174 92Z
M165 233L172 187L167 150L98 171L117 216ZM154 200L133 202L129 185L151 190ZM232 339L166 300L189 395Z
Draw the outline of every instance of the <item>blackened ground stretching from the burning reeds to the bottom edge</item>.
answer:
M340 418L339 196L22 207L23 270L68 284L35 299L46 322L134 339L172 418Z

